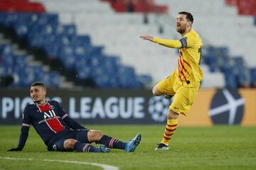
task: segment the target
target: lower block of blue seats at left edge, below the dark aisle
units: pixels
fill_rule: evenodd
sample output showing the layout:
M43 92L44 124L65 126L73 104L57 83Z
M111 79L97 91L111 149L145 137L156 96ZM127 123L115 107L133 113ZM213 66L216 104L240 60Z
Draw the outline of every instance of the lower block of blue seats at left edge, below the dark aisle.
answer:
M32 63L26 53L6 42L2 35L0 42L0 77L9 77L9 87L27 87L34 81L44 81L50 87L60 87L58 72L49 72L41 64Z

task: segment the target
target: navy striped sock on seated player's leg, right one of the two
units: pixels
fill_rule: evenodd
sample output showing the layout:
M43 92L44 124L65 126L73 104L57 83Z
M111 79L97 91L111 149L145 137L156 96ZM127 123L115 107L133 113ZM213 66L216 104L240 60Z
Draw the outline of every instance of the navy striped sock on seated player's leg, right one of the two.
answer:
M125 142L114 139L113 137L109 137L107 135L103 135L102 138L97 143L105 145L106 147L109 147L109 148L125 149Z

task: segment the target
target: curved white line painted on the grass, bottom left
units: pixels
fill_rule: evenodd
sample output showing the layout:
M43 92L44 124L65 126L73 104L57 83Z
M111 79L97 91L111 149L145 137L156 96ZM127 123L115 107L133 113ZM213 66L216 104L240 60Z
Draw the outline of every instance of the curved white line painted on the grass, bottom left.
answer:
M0 157L0 159L12 159L12 160L23 160L23 161L33 161L35 159L32 158L14 158L14 157ZM40 159L38 159L40 160ZM104 170L118 170L117 166L111 166L107 164L98 164L93 162L76 162L76 161L65 161L65 160L56 160L56 159L42 159L44 162L61 162L61 163L68 163L68 164L90 164L93 166L100 166Z

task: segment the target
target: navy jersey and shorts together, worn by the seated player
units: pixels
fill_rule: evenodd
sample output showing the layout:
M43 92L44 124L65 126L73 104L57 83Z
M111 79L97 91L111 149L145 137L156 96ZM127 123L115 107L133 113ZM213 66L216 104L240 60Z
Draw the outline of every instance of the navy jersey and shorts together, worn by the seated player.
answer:
M44 105L34 103L26 106L23 112L18 148L24 147L31 125L36 129L49 150L52 150L55 142L62 137L79 138L80 142L88 142L88 130L69 118L57 101L47 101Z

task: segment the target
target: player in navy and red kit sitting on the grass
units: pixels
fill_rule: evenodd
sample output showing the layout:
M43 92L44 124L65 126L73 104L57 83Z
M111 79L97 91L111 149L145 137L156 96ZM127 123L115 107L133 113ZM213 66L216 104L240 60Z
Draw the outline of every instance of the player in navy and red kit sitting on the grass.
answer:
M104 135L100 130L84 128L75 120L69 118L57 101L46 101L46 86L42 82L34 82L30 90L33 104L23 111L23 124L18 147L9 151L21 151L28 138L31 125L41 136L49 151L77 152L110 152L110 149L124 149L134 152L142 135L138 134L129 142L122 142ZM92 142L100 144L94 147Z

